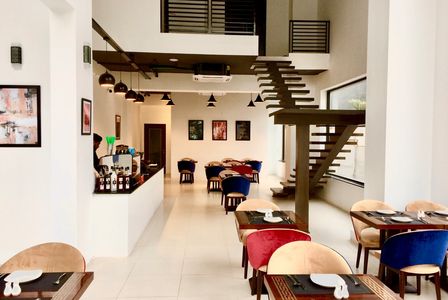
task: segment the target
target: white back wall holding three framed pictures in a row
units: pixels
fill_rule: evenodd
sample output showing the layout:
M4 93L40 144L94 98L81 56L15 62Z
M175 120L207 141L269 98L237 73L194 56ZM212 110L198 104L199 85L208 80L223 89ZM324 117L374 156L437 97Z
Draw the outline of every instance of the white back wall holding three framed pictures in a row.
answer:
M174 96L174 95L173 95ZM268 111L265 105L247 107L249 95L227 94L215 97L216 108L207 108L207 96L193 93L175 94L176 105L172 108L171 172L178 176L177 161L183 157L198 160L196 177L205 179L204 165L224 157L243 159L246 157L263 161L262 173L270 169L267 139L269 131ZM256 95L254 95L255 98ZM204 140L188 140L188 120L204 120ZM213 141L212 120L227 120L227 140ZM251 121L251 140L235 141L235 121ZM263 175L261 175L263 176ZM176 177L174 177L176 178Z

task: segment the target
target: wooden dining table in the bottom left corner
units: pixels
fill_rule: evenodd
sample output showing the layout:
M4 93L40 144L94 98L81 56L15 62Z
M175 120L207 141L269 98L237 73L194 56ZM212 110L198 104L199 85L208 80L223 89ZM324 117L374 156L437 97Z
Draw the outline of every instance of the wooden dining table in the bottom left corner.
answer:
M0 280L0 300L76 300L80 299L93 281L93 272L66 273L59 284L54 284L63 273L43 273L39 278L20 283L22 292L18 296L5 297L5 281ZM6 276L4 277L6 278Z

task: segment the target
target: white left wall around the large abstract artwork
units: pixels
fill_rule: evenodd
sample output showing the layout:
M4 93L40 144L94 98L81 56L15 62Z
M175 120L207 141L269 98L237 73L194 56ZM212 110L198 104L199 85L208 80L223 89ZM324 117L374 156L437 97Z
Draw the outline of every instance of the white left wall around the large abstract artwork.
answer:
M23 9L26 7L26 9ZM90 42L91 3L7 1L2 18L0 81L41 86L42 146L1 148L2 211L8 228L0 261L34 244L62 241L88 251L92 184L91 138L81 136L81 98L91 99L91 69L82 62ZM20 22L17 16L20 15ZM23 50L21 66L9 47ZM86 159L87 157L87 159Z

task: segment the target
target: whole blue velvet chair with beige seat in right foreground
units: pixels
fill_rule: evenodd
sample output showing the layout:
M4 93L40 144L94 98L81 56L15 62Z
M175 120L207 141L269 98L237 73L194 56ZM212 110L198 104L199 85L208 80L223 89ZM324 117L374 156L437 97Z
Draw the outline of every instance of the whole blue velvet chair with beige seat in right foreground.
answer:
M400 297L404 298L406 276L417 276L417 294L420 295L420 276L434 275L440 300L440 268L447 249L448 230L417 230L391 236L381 248L378 277L384 280L386 268L398 273Z

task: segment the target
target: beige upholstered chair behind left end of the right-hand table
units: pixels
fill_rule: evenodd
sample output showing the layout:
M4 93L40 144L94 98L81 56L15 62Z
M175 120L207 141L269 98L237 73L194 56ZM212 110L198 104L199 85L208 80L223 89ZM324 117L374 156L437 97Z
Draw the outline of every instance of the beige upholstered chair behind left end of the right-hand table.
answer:
M379 200L361 200L353 204L351 211L362 210L378 210L378 209L391 209L393 208ZM355 231L355 237L358 241L358 253L356 255L356 268L359 268L359 261L361 258L362 248L364 248L364 269L363 273L367 273L367 266L369 262L369 251L380 249L380 232L378 229L369 227L366 223L363 223L355 218L352 218L353 230Z

